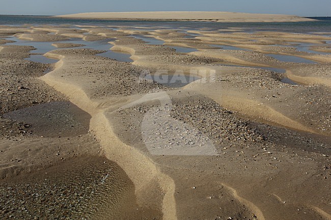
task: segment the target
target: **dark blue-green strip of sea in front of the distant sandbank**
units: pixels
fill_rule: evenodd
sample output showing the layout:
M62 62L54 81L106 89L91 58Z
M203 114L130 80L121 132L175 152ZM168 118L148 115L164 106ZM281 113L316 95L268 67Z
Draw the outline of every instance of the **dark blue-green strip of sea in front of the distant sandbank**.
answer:
M243 28L246 33L257 31L282 31L291 33L326 33L331 36L331 17L311 17L316 21L305 22L199 22L199 21L127 21L127 20L96 20L96 19L68 19L52 16L25 16L25 15L0 15L0 25L97 25L109 26L135 26L149 28L176 28L219 30L227 28ZM327 34L329 33L329 34Z

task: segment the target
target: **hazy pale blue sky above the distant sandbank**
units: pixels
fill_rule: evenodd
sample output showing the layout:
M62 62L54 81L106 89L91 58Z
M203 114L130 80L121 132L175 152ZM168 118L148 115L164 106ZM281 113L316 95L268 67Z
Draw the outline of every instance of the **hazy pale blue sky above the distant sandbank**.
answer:
M1 0L0 14L63 15L81 12L227 11L331 16L331 0Z

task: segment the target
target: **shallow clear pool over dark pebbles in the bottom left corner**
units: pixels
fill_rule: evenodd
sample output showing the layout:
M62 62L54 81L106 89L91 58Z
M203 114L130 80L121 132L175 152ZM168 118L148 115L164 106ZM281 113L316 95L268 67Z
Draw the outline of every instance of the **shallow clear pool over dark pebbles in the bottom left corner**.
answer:
M133 183L106 158L76 157L18 178L0 182L2 219L131 219L139 214Z

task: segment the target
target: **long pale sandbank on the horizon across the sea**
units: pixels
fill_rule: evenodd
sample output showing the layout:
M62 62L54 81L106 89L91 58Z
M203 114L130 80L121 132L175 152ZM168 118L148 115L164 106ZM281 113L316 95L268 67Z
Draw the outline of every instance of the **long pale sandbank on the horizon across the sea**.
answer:
M190 20L216 22L297 22L313 21L295 15L251 14L236 12L98 12L59 15L65 18L119 20Z

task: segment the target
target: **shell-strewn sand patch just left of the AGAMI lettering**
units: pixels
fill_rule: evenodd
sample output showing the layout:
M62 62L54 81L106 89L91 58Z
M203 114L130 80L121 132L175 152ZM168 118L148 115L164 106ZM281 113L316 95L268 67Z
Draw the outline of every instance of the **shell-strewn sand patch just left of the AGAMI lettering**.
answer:
M146 69L136 67L128 62L119 62L106 57L93 56L99 52L90 49L68 49L53 51L59 54L69 54L70 59L76 59L75 66L65 70L57 71L57 74L70 79L79 78L92 84L91 93L93 98L104 98L106 96L130 96L135 93L146 93L151 90L164 89L163 86L152 80L140 77ZM84 59L80 57L84 55ZM81 71L83 70L84 71Z

